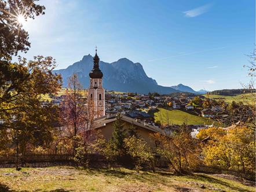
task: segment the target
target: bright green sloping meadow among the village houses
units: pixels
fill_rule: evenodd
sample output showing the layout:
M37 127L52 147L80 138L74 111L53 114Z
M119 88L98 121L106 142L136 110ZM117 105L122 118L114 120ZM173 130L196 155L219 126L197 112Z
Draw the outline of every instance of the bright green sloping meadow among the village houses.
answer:
M191 115L182 110L167 110L163 108L158 108L158 111L153 113L155 122L160 121L161 124L175 124L181 125L186 123L188 125L210 125L211 120L206 117L200 117L196 115Z

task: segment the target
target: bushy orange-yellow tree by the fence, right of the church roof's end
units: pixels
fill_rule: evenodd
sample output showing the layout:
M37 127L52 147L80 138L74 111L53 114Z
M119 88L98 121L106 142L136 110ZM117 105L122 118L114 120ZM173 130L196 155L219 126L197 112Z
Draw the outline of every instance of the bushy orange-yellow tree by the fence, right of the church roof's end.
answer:
M185 126L165 134L156 133L153 138L158 141L156 152L169 161L170 169L175 173L191 172L199 163L198 141L191 137Z

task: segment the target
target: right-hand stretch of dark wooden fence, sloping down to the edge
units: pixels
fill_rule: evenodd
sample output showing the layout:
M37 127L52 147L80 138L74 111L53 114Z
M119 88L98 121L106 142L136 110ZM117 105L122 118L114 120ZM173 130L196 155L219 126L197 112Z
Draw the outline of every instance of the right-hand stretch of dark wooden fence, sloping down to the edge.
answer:
M255 182L255 173L237 170L237 169L228 169L228 168L222 168L222 167L199 165L196 168L195 172L234 175L234 176L239 176L240 178L248 179Z

